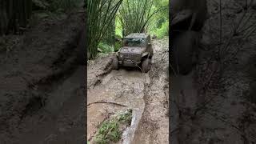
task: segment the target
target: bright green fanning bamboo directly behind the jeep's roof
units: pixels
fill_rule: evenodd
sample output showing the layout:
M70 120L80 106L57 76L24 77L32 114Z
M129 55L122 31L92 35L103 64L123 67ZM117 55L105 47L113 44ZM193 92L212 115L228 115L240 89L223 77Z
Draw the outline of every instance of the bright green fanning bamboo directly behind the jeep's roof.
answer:
M122 34L147 32L154 16L168 7L154 0L126 0L118 11L118 21L122 26Z

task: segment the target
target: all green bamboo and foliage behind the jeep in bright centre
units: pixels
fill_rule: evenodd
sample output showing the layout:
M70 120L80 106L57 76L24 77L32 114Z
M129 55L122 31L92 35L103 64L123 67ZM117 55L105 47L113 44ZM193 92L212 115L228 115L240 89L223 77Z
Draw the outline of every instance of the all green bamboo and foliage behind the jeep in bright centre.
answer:
M98 51L118 50L121 38L130 33L168 35L168 4L168 0L87 0L89 58L95 58Z

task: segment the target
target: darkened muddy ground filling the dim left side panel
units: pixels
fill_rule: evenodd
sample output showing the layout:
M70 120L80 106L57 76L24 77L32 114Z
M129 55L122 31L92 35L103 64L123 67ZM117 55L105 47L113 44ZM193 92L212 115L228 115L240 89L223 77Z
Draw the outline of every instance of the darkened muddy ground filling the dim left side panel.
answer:
M23 35L6 36L11 45L0 54L1 144L85 142L86 66L75 54L82 18L45 18Z

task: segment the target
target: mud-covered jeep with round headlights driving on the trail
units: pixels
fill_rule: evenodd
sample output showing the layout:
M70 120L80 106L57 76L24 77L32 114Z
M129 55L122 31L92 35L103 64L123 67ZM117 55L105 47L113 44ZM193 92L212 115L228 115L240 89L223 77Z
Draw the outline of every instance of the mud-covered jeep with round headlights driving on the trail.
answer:
M122 47L114 55L112 66L114 70L120 66L139 66L143 73L147 73L153 54L150 34L129 34L123 38Z

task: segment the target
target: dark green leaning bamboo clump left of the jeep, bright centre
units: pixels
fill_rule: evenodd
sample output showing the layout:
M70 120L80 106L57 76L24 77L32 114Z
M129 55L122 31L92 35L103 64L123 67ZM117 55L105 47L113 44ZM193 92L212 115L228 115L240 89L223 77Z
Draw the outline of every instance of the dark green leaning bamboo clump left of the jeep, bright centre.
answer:
M89 58L95 58L98 54L98 44L102 41L106 30L113 22L114 16L121 5L122 0L87 0L87 26Z

